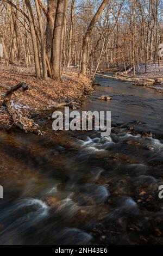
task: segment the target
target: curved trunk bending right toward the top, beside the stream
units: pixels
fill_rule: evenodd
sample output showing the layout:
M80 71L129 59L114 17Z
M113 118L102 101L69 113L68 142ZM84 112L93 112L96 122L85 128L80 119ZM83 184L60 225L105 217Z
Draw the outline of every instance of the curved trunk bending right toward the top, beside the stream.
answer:
M86 48L87 44L90 39L90 35L93 31L93 27L95 27L96 22L98 20L98 17L102 14L103 9L105 8L106 4L109 2L109 0L103 0L101 6L98 8L97 13L93 16L93 19L90 22L89 27L87 28L86 34L84 36L83 40L83 46L82 46L82 64L81 64L81 71L80 74L86 75Z

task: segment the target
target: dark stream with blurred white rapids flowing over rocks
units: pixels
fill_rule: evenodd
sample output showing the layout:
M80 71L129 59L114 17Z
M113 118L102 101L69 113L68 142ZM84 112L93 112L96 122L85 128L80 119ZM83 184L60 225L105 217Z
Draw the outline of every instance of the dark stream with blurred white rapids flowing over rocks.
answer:
M96 80L82 110L111 111L110 136L0 131L1 245L163 244L162 94Z

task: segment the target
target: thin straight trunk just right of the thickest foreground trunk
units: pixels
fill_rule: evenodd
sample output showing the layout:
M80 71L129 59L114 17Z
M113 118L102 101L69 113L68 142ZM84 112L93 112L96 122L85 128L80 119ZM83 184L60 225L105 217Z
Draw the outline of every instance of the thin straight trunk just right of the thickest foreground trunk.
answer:
M70 33L68 38L68 54L67 54L67 67L71 64L71 52L72 52L72 28L73 28L73 13L74 13L74 1L71 2L71 20L70 20Z

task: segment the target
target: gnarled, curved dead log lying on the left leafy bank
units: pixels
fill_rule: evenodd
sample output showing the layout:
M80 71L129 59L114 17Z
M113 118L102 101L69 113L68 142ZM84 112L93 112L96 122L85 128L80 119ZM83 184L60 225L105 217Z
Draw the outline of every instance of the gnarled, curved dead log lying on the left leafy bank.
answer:
M35 124L33 119L29 119L20 112L17 112L14 106L11 105L12 94L20 88L22 88L23 92L29 89L27 84L24 82L20 82L16 86L9 87L7 92L1 95L1 99L3 99L2 105L7 108L7 111L12 120L12 125L14 124L24 132L32 132L36 133L37 135L42 135L42 132L39 130L39 126Z

